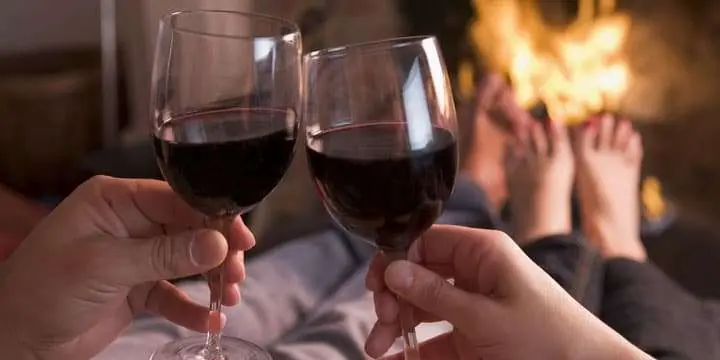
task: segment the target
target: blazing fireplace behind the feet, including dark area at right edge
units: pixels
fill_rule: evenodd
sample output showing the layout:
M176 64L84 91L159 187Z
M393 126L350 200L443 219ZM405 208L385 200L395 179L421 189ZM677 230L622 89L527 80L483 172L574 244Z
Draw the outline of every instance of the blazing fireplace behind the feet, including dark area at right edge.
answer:
M472 96L474 72L489 68L507 76L518 103L528 109L542 104L553 119L577 124L598 112L624 115L644 135L644 172L652 175L643 184L646 215L667 209L665 189L684 211L720 220L720 191L711 181L720 180L720 162L707 150L693 150L713 146L720 130L714 119L720 89L712 79L720 59L713 41L720 5L471 2L468 38L475 57L457 66L458 94Z

